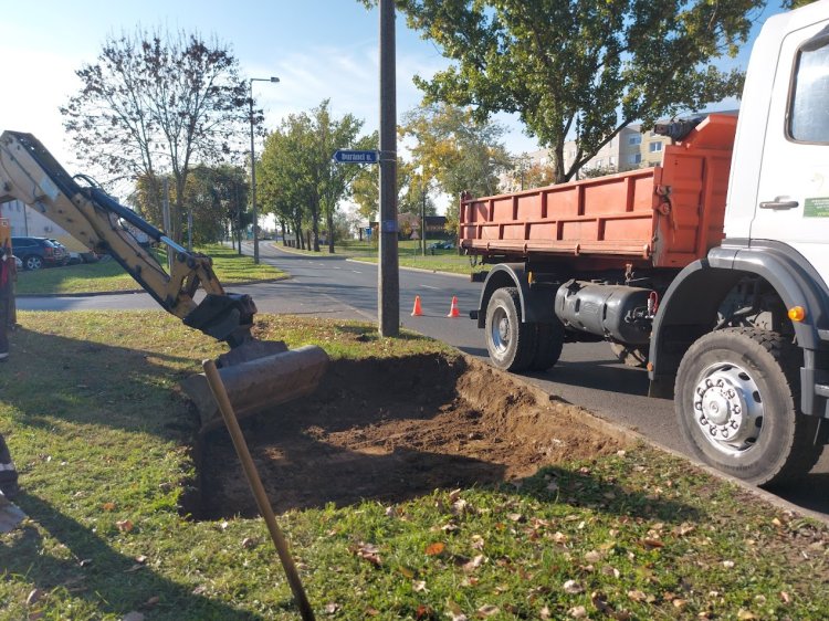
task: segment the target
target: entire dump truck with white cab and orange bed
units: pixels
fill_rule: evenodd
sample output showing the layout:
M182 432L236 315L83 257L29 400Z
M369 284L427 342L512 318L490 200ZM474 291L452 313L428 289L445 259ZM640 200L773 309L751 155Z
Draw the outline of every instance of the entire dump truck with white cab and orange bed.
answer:
M492 264L471 316L515 372L606 340L695 457L797 478L829 438L829 1L766 22L738 118L655 130L659 166L461 197L460 248Z

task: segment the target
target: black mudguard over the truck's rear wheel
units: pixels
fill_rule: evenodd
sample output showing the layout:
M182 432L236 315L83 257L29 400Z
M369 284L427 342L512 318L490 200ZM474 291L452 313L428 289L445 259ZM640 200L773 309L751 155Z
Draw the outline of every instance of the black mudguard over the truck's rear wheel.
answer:
M527 324L553 322L555 317L553 313L555 288L531 285L524 263L499 263L490 271L481 292L481 303L476 313L479 328L483 328L486 323L486 305L490 303L490 297L502 287L516 287L518 290L522 322Z

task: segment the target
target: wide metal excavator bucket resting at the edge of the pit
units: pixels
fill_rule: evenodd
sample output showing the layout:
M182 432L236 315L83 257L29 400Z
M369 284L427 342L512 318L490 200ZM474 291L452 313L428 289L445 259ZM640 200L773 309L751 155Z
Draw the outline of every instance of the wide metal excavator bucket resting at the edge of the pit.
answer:
M223 354L217 360L219 375L239 418L274 411L316 390L328 355L315 345L288 349L283 341L250 340ZM223 424L204 373L181 382L196 404L201 432Z

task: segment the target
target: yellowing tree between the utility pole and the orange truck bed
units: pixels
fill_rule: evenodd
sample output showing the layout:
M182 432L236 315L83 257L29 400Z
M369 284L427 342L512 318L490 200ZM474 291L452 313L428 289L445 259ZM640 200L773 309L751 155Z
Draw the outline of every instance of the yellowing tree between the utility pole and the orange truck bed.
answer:
M448 104L422 104L403 117L403 137L414 138L412 166L422 179L433 179L453 199L461 192L494 194L499 175L511 168L499 140L504 128L478 118L472 110ZM447 229L458 232L458 201L447 209Z

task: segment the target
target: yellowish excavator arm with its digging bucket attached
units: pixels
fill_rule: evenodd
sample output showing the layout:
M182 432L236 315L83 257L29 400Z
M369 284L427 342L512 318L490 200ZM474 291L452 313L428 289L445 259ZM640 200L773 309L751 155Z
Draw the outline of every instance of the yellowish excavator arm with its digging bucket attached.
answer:
M65 229L91 251L108 253L167 312L185 325L228 344L217 367L240 417L258 413L316 389L328 357L316 346L288 350L283 341L251 335L256 306L249 295L228 293L212 260L182 248L97 187L71 177L31 134L0 136L0 202L20 200ZM165 244L169 273L129 229ZM203 297L197 303L197 293ZM202 431L221 423L203 373L188 378L185 391L199 409Z

